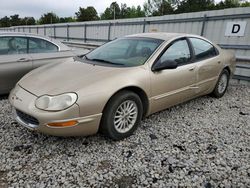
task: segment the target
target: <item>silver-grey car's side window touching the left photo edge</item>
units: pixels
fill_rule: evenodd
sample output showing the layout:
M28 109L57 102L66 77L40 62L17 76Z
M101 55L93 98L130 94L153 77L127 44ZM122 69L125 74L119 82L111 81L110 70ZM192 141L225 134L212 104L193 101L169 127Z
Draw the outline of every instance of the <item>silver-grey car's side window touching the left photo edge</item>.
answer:
M0 37L0 55L26 54L27 38Z

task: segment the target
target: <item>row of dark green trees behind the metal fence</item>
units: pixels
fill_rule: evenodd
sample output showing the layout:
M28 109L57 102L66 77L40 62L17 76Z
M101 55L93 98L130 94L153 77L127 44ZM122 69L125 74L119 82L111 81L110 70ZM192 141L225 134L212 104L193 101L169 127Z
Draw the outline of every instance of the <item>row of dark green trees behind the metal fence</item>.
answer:
M11 27L17 25L35 25L51 23L68 23L75 21L92 21L92 20L112 20L122 18L138 18L145 16L161 16L166 14L177 14L185 12L196 12L206 10L218 10L235 7L250 7L249 1L243 0L221 0L216 3L214 0L145 0L143 8L141 6L128 7L126 4L112 2L99 18L94 7L79 7L76 12L76 19L73 17L59 18L55 13L49 12L43 14L36 21L33 17L20 18L18 14L0 18L0 27Z

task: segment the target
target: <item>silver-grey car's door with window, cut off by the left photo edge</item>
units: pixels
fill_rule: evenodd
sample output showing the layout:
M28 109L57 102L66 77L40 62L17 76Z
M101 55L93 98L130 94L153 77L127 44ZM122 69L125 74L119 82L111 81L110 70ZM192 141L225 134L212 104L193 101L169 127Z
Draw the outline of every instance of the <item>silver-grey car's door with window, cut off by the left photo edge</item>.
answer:
M27 38L0 37L0 94L8 93L32 69L27 54Z

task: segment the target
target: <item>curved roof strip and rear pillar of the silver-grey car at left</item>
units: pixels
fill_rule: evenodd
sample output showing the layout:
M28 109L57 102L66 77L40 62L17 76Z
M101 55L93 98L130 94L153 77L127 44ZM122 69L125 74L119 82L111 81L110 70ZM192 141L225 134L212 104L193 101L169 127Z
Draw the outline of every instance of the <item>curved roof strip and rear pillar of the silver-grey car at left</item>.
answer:
M40 39L44 39L47 40L53 44L55 44L56 46L59 47L60 51L66 51L66 50L70 50L70 48L68 46L66 46L65 44L61 43L59 40L47 37L47 36L42 36L42 35L38 35L38 34L34 34L34 33L24 33L24 32L0 32L0 37L3 36L17 36L17 37L34 37L34 38L40 38Z

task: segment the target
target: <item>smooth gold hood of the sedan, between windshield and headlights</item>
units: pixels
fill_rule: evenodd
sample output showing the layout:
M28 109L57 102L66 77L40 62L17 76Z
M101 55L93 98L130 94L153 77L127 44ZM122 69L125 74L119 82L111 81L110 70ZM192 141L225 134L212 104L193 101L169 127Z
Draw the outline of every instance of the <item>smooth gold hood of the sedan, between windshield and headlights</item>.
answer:
M88 64L73 58L70 61L49 64L25 75L18 84L36 96L78 92L91 85L103 86L105 80L123 73L124 67Z

